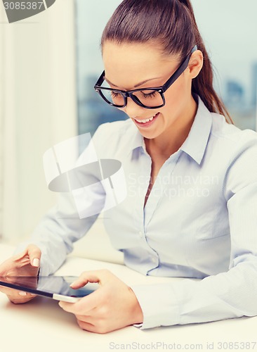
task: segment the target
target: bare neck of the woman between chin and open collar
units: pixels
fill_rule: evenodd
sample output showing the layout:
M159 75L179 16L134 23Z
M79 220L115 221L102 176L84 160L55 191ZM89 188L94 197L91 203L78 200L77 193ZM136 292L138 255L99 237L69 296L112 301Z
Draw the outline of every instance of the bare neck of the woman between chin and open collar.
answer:
M180 146L185 142L195 120L197 113L197 103L195 99L190 100L188 108L185 109L183 116L180 116L164 133L153 139L145 138L145 146L150 156L162 156L169 158L176 153Z

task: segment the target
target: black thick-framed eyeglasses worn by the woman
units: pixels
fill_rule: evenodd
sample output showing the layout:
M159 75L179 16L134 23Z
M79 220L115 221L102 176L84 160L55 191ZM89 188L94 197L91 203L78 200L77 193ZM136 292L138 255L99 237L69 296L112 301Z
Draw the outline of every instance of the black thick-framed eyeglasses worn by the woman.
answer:
M152 88L140 88L133 90L120 90L113 89L110 87L101 87L103 82L105 81L105 71L103 71L102 75L100 75L98 81L95 83L95 91L100 94L100 96L111 106L115 106L115 108L124 108L127 104L128 98L131 98L135 103L143 108L147 109L155 109L162 108L165 105L165 97L164 92L171 87L180 75L185 71L187 65L190 61L190 57L194 51L197 50L197 46L195 45L193 49L190 51L190 54L187 55L183 63L179 66L179 68L171 75L169 80L162 87L152 87Z

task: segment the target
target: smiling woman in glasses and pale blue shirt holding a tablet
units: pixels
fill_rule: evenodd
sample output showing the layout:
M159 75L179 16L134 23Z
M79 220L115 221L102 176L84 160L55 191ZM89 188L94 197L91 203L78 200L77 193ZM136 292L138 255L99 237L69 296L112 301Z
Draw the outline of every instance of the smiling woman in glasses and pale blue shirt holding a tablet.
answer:
M128 287L111 272L84 272L73 287L100 289L60 306L102 333L256 315L256 133L227 123L190 0L124 0L102 50L95 89L129 116L93 137L101 158L121 161L128 185L105 217L112 244L144 275L199 280ZM49 275L96 218L72 219L61 203L0 274L37 275L40 260ZM2 291L15 303L32 299Z

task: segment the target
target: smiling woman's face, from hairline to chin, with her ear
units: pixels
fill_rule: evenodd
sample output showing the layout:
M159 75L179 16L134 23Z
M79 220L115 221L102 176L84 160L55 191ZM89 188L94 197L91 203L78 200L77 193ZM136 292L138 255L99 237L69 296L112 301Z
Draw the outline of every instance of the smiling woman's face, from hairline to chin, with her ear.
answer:
M148 53L151 53L149 55ZM123 106L117 106L119 109L124 111L133 122L141 129L140 133L147 138L145 143L151 143L148 139L154 139L154 143L158 142L157 137L162 134L162 140L164 141L164 130L166 131L166 142L169 140L169 146L166 145L166 152L169 153L171 149L176 148L178 139L172 138L175 129L173 128L174 123L178 119L178 115L186 114L185 118L180 118L180 125L187 125L187 129L190 128L190 121L195 115L196 104L191 96L191 83L189 75L186 76L187 70L184 63L189 63L189 59L194 60L194 72L190 75L197 75L197 69L200 70L202 67L202 52L194 51L183 58L178 60L177 56L164 55L158 48L155 49L153 45L130 43L130 44L118 44L110 39L107 39L103 44L103 61L105 64L105 75L108 80L114 83L121 89L129 89L125 91L114 90L115 93L125 95ZM162 63L162 65L160 65ZM180 65L183 67L184 74L180 71ZM187 66L186 66L187 67ZM124 69L126 68L126 69ZM179 72L180 73L180 72ZM175 75L175 76L173 76ZM176 77L178 75L178 77ZM166 84L171 79L171 84ZM173 80L176 77L176 80ZM136 91L132 88L138 86L139 82L145 82L141 87L138 87ZM164 85L164 88L163 88ZM97 85L98 91L106 91L105 88ZM152 97L145 97L143 94L147 92L146 89L150 89L152 93L152 87L155 87L157 95ZM108 89L107 89L108 90ZM111 90L112 92L112 90ZM132 94L131 98L127 98L126 95ZM162 96L164 98L162 98ZM159 97L159 98L158 98ZM106 96L105 96L106 98ZM114 99L114 98L112 98ZM155 99L162 99L160 104L155 105ZM192 101L191 101L192 99ZM105 99L106 101L107 99ZM147 102L146 102L147 100ZM154 104L154 106L145 106L144 103ZM159 101L159 100L158 100ZM176 101L176 103L175 103ZM144 103L143 103L144 102ZM112 101L113 103L113 101ZM126 104L124 106L124 104ZM172 116L171 116L172 113ZM169 115L169 118L168 118ZM154 117L152 119L152 117ZM152 119L152 120L150 120ZM145 122L145 120L149 120ZM158 124L156 123L158 120ZM182 122L183 121L183 122ZM173 132L171 131L173 130ZM185 136L180 135L180 142ZM176 146L171 145L171 141L176 140ZM169 149L169 150L168 150Z

